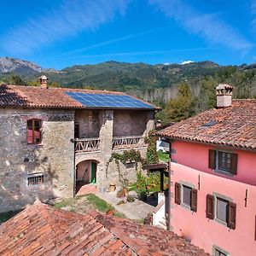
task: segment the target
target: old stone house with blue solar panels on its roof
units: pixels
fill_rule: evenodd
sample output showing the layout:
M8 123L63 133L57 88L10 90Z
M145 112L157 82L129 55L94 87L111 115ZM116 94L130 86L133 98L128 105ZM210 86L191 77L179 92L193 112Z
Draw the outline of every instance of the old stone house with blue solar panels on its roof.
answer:
M155 107L121 92L0 85L0 212L119 183L113 152L146 153ZM120 164L129 181L133 162Z

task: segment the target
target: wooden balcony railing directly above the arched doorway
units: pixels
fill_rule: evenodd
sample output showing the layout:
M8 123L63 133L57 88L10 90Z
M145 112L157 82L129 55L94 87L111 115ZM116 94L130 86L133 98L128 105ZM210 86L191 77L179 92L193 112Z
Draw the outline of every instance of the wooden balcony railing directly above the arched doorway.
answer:
M81 138L75 140L75 153L99 151L100 138Z

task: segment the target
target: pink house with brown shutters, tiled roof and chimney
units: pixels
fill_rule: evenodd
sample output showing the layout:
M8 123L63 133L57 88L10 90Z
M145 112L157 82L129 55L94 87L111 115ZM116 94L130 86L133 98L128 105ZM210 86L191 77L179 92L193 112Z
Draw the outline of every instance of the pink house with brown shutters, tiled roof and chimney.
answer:
M170 142L172 231L214 256L256 255L256 100L233 100L159 131Z

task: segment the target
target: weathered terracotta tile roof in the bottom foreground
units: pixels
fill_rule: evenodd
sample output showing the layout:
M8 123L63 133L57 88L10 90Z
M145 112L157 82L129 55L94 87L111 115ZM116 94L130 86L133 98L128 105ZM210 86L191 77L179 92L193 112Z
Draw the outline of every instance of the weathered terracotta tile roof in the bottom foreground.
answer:
M208 255L166 230L40 202L0 225L0 255Z

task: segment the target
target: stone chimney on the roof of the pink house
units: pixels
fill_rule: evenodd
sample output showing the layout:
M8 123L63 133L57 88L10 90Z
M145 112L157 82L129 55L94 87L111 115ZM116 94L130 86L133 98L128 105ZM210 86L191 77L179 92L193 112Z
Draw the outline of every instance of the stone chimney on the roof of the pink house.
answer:
M218 84L216 87L217 108L227 108L232 105L233 88L229 84Z

